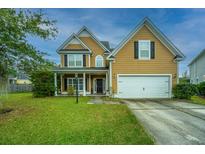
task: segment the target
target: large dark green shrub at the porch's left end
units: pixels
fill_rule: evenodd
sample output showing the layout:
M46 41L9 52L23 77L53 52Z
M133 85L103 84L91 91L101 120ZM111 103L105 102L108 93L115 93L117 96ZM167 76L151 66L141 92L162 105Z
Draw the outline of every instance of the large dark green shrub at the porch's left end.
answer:
M32 92L34 97L53 96L55 92L54 87L54 73L43 70L32 72L31 81L33 84Z

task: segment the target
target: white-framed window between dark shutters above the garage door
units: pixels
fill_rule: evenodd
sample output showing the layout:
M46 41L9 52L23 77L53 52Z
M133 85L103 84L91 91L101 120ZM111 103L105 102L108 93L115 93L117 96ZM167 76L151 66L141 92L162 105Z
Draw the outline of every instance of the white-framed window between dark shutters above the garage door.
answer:
M139 40L139 59L150 59L150 40Z

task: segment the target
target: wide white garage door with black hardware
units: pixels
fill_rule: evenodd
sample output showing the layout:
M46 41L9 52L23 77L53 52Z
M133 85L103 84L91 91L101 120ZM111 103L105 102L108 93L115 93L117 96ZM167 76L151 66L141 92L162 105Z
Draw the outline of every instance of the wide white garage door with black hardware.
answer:
M125 76L118 77L120 98L168 98L170 76Z

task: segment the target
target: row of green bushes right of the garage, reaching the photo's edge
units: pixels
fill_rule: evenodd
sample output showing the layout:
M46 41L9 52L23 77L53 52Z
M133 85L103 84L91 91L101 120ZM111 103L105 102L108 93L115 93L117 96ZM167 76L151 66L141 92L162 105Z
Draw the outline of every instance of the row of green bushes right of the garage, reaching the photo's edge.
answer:
M173 88L173 94L175 98L179 99L191 99L194 95L205 96L205 82L198 85L190 83L177 84Z

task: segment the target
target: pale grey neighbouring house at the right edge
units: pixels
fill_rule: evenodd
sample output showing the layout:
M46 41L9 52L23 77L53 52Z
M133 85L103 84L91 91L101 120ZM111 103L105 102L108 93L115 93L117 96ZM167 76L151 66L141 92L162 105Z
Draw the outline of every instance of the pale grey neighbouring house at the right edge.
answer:
M190 82L205 81L205 49L189 63Z

